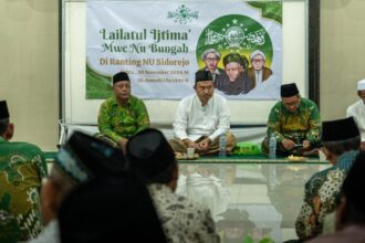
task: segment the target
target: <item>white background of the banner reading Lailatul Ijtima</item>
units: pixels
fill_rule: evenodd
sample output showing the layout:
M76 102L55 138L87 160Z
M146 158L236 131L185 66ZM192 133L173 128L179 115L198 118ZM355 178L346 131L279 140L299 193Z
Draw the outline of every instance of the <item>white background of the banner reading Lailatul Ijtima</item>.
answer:
M175 12L185 6L191 12L198 12L198 19L190 18L185 24L168 19L168 12ZM112 76L119 71L129 73L133 82L132 93L140 98L180 99L192 93L195 72L199 66L197 60L197 43L201 32L213 20L229 14L240 14L258 21L270 35L273 55L270 68L273 75L262 86L252 89L247 95L226 96L229 99L278 99L282 81L282 25L273 20L261 17L261 10L243 1L202 1L202 2L169 2L169 1L90 1L86 7L86 62L98 74ZM124 32L144 32L146 40L105 40L101 30L109 32L123 29ZM155 43L152 30L168 30L169 32L187 33L187 40L161 40L158 46L186 45L187 53L156 53L148 45ZM103 44L145 46L132 52L103 51ZM129 49L128 49L129 50ZM249 56L247 56L249 57ZM112 64L111 60L128 60L123 65ZM143 64L143 60L154 60L154 65ZM104 60L106 64L102 64ZM181 65L158 65L157 61L181 61ZM139 61L140 66L131 63ZM222 61L220 61L222 62ZM157 72L157 74L150 74ZM146 74L148 73L148 74ZM164 73L164 74L159 74ZM166 74L165 74L166 73ZM218 92L216 89L216 92Z

